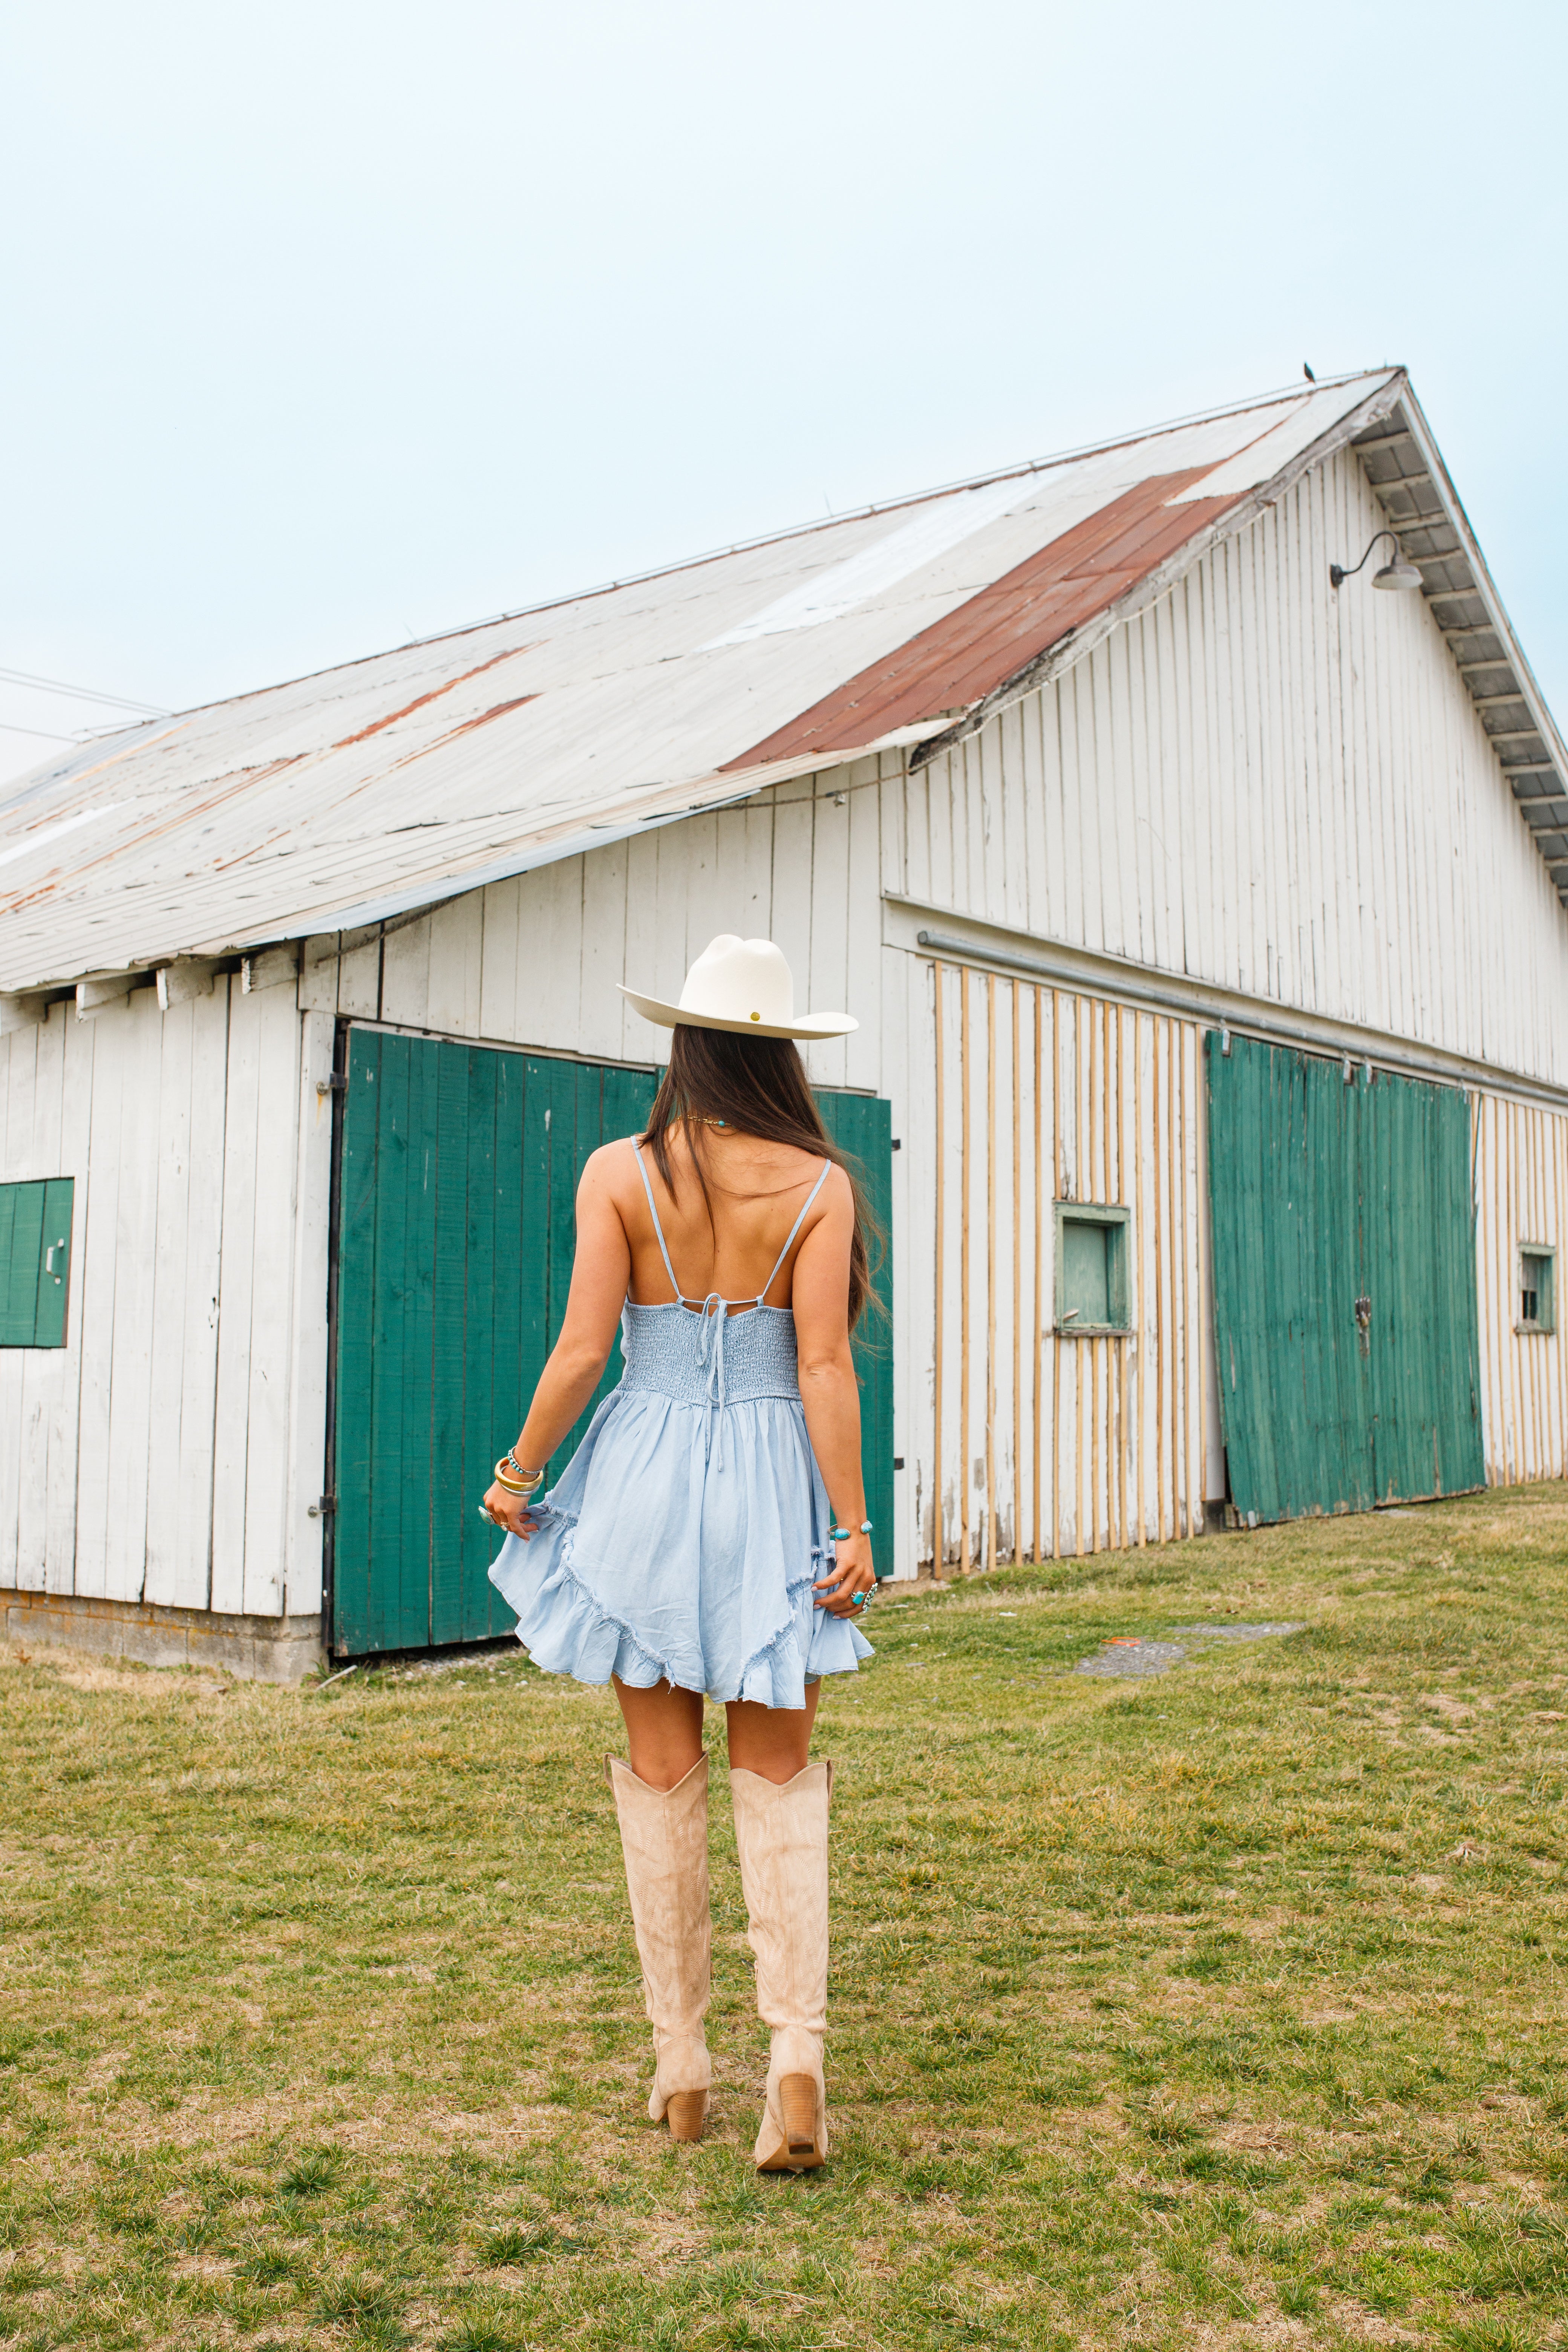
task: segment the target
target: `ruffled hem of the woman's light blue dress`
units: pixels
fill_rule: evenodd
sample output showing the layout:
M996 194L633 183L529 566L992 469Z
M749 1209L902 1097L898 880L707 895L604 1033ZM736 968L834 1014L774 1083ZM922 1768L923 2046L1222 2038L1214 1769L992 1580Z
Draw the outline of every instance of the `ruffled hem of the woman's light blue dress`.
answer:
M489 1581L508 1609L517 1611L517 1639L545 1675L571 1675L574 1682L599 1686L614 1675L635 1691L670 1682L682 1691L705 1691L719 1703L745 1698L764 1708L799 1710L806 1705L809 1682L853 1675L860 1658L875 1656L858 1625L816 1606L811 1588L823 1555L813 1550L811 1569L785 1588L785 1621L748 1653L733 1689L715 1686L701 1656L658 1656L635 1625L607 1609L576 1564L576 1512L543 1503L534 1515L545 1524L529 1543L508 1536ZM543 1566L529 1559L538 1543L550 1555Z

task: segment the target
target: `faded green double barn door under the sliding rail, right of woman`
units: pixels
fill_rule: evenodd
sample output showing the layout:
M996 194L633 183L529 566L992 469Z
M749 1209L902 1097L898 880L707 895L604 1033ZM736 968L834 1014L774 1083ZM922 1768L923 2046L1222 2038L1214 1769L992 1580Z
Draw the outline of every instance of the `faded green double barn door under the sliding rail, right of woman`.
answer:
M1208 1035L1229 1491L1244 1517L1483 1484L1469 1105Z

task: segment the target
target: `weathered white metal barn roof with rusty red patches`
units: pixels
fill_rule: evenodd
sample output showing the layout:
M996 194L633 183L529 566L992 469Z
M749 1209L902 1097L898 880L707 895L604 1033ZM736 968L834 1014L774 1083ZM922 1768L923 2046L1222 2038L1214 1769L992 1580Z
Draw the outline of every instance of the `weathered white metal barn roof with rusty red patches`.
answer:
M73 750L0 797L0 990L348 929L931 750L1401 397L1399 369L1272 395Z

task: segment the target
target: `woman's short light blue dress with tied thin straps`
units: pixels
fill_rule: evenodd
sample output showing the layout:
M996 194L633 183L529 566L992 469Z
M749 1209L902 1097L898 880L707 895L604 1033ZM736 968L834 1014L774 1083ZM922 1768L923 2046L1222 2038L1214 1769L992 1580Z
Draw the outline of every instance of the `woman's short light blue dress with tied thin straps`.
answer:
M804 1708L809 1682L872 1656L811 1592L835 1559L832 1512L799 1402L795 1312L766 1303L832 1162L748 1303L684 1298L635 1141L632 1152L675 1298L625 1301L621 1385L534 1505L538 1534L508 1536L489 1576L548 1675Z

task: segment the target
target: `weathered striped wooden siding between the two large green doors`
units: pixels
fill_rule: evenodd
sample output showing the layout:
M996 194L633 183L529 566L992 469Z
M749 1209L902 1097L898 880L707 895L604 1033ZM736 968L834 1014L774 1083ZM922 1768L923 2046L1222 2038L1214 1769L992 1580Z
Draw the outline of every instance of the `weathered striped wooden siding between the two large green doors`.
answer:
M959 964L936 964L931 990L936 1479L922 1550L966 1569L1197 1534L1197 1025ZM1131 1209L1126 1334L1056 1329L1058 1200Z

